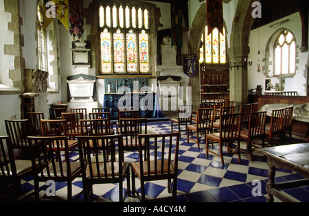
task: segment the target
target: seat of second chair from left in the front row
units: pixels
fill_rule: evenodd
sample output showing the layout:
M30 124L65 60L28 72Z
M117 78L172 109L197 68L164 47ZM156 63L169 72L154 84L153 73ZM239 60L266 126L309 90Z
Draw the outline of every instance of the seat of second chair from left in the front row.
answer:
M53 164L52 163L49 163L48 167L49 167L49 171L50 171L50 175L51 176L55 176L57 174L57 177L60 177L60 163L59 162L56 162L55 163L56 165L56 173L54 173L53 171ZM62 165L62 172L64 174L64 177L68 177L67 176L67 163L66 162L62 162L61 163ZM77 171L80 170L80 162L70 162L70 165L71 165L71 173L76 173ZM47 177L48 173L47 173L47 168L43 169L43 174L45 177ZM41 176L41 172L38 173L38 177L42 177Z

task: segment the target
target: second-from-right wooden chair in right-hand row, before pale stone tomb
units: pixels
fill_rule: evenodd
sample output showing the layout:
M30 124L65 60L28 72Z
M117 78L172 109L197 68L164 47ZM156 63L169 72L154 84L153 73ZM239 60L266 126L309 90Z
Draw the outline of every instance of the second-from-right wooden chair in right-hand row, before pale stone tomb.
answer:
M273 139L275 134L279 134L279 139L282 139L282 126L284 119L284 108L273 110L271 113L271 123L266 125L265 134L266 141L273 146Z

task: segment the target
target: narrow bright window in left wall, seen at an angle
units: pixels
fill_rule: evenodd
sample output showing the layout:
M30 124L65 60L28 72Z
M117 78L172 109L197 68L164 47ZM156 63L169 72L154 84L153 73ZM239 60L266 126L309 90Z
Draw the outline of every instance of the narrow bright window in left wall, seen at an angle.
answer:
M38 33L38 69L47 71L47 49L46 32L44 26L44 16L41 1L38 1L36 8L36 29Z

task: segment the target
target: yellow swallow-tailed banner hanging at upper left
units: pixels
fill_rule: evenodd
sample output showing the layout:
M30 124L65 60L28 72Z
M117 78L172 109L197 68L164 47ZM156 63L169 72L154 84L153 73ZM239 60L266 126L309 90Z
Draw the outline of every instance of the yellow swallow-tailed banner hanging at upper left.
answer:
M69 30L69 0L44 0L45 20L44 27L47 27L52 19L58 18L60 22Z

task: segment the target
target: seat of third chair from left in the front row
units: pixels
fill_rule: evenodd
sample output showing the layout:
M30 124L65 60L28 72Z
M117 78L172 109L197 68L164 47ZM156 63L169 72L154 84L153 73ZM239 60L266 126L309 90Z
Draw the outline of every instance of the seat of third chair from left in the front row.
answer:
M114 176L119 177L119 163L115 162L113 165L114 165ZM100 178L105 178L104 163L100 162L99 166L100 166L100 170L99 170ZM112 163L106 163L106 167L107 167L107 173L106 173L107 177L113 177ZM128 169L128 163L123 162L122 163L122 176L125 175L126 169ZM96 169L95 163L93 163L92 171L93 171L93 178L99 178L98 170ZM89 165L87 165L87 169L86 169L86 178L91 178Z

